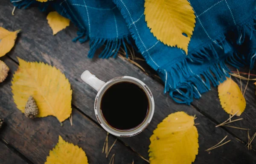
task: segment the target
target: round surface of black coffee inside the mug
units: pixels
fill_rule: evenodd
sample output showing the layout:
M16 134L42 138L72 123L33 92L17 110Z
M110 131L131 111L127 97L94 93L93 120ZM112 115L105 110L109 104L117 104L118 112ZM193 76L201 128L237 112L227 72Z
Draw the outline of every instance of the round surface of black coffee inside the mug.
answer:
M149 102L144 90L131 82L119 82L102 96L100 109L108 124L117 130L130 130L143 123Z

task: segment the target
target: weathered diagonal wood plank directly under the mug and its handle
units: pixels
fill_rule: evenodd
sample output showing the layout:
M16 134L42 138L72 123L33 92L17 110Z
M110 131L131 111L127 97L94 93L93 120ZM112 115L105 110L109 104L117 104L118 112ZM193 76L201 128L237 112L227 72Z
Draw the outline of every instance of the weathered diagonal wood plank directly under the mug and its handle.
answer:
M6 3L6 6L11 6ZM3 6L6 11L11 10L11 7ZM1 12L1 11L0 11ZM7 12L8 13L8 12ZM147 157L149 137L157 124L160 123L169 113L175 111L186 111L190 115L196 114L196 120L199 133L199 155L196 158L196 163L255 163L255 153L246 150L241 142L232 139L230 143L224 147L213 150L208 154L204 150L218 143L228 133L221 128L214 128L215 123L204 117L201 113L192 107L186 105L177 105L167 95L163 95L163 86L158 82L153 81L150 77L145 76L139 69L133 65L122 61L121 59L93 59L93 62L86 57L88 52L88 43L80 45L72 43L70 40L76 36L74 27L68 27L66 30L59 32L56 36L51 36L51 29L45 20L46 14L40 13L37 9L17 10L15 17L9 18L8 14L0 13L5 27L15 29L22 28L23 33L20 35L15 50L9 53L10 57L21 57L28 61L43 61L55 65L70 80L73 88L73 104L82 110L87 116L96 120L93 113L93 101L96 96L96 91L85 85L80 80L80 74L89 69L94 74L109 80L115 76L130 75L143 80L151 89L155 102L156 112L149 127L138 136L132 138L121 139L134 150ZM8 20L8 19L9 20ZM8 22L6 21L8 20ZM12 24L16 21L15 24ZM31 24L31 22L37 22ZM36 37L35 37L36 36ZM69 45L69 46L67 46ZM236 153L230 153L227 150L236 150ZM242 156L237 156L241 154Z

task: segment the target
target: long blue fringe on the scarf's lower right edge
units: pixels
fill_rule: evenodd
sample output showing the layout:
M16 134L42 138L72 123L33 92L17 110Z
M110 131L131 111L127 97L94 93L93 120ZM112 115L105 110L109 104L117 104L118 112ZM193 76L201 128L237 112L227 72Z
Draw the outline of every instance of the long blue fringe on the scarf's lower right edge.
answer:
M242 54L234 52L232 46L242 45L245 40L252 40L253 37L256 38L256 30L253 25L254 21L256 21L256 15L254 15L246 24L238 26L239 31L235 43L231 44L225 38L220 40L218 44L215 42L213 43L214 45L212 44L208 48L204 48L202 51L188 57L189 60L194 62L203 62L204 59L211 59L212 57L215 57L215 59L219 58L217 63L210 66L199 75L194 74L188 69L189 65L187 65L186 60L184 60L181 65L175 65L172 69L174 72L166 74L167 78L165 78L167 80L165 84L165 92L169 91L169 95L175 102L189 105L193 101L193 98L199 99L202 93L209 91L211 84L214 87L217 87L220 83L226 80L226 77L230 77L230 70L227 68L226 64L229 64L234 68L250 65L250 69L253 69L256 60L256 50L252 48L254 52L250 52L245 57ZM218 56L216 53L217 46L220 46L224 53L228 54L226 59ZM180 68L182 68L181 71ZM162 76L163 72L164 71L162 70ZM175 83L174 79L180 79L181 76L187 80L180 84ZM171 84L174 86L171 86Z

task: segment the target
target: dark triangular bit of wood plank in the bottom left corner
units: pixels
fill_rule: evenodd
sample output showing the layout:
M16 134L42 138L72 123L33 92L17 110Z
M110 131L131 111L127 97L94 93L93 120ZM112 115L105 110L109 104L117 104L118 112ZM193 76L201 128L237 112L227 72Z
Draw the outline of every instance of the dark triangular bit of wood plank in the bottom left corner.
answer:
M3 144L3 142L0 142L0 152L0 164L28 164Z

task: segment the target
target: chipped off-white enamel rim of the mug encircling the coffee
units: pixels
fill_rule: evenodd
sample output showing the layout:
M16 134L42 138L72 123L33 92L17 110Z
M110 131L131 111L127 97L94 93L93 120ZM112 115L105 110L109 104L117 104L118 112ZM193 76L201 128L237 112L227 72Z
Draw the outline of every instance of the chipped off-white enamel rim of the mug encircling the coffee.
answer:
M118 82L132 82L135 85L138 85L137 83L139 83L138 86L140 88L142 88L143 91L145 92L145 94L148 98L148 103L149 103L149 111L148 111L147 116L145 116L145 119L143 120L143 122L140 125L138 125L137 127L135 127L134 129L127 130L127 131L117 130L117 129L111 127L111 125L109 125L108 122L105 120L104 116L102 115L101 109L100 109L100 101L99 100L101 100L103 94L105 93L105 91L108 88L110 88L113 84L116 84ZM96 119L98 120L99 124L108 133L111 133L112 135L119 136L119 137L131 137L131 136L135 136L135 135L141 133L151 122L151 119L154 115L154 97L153 97L151 91L149 90L148 86L145 85L145 83L142 82L140 79L137 79L137 78L131 77L131 76L118 76L118 77L115 77L115 78L109 80L102 86L102 88L100 88L100 90L97 93L96 98L95 98L94 111L95 111Z

